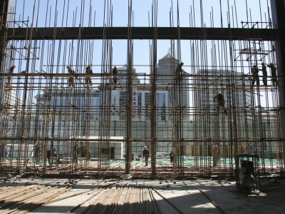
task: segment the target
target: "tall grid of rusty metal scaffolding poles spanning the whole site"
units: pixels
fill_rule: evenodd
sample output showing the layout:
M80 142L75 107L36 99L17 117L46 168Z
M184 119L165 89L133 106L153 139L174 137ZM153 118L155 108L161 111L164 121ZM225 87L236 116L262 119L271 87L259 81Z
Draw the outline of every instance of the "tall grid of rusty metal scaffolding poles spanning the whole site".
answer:
M28 16L25 4L21 11L17 0L1 2L0 173L234 178L240 153L259 156L260 175L284 171L283 37L270 12L276 1L257 1L260 16L245 1L246 21L237 18L236 1L216 10L217 1L209 22L202 1L192 1L187 27L180 27L180 1L171 1L167 27L157 24L157 0L145 27L134 25L132 0L126 27L113 26L111 0L103 26L95 25L92 1L78 2L71 11L69 1L35 0ZM141 40L149 42L149 61L135 64ZM165 40L169 50L159 58ZM126 61L113 63L113 41L127 49ZM150 167L141 160L144 146Z

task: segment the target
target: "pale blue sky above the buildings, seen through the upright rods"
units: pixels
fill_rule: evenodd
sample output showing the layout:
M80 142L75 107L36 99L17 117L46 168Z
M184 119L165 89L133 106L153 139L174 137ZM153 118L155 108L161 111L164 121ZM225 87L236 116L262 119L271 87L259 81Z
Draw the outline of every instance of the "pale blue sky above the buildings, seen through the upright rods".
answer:
M152 5L157 8L157 26L170 26L170 16L172 26L206 26L206 27L242 27L242 21L259 22L259 27L265 27L260 24L261 21L268 21L270 10L269 0L14 0L15 20L29 20L28 26L110 26L108 13L113 9L113 26L128 26L129 4L132 2L132 26L152 26ZM40 3L40 4L39 4ZM202 14L202 15L201 15ZM76 17L76 18L75 18ZM150 21L149 21L150 17ZM178 19L179 17L179 19ZM90 18L90 19L89 19ZM20 24L21 25L21 24ZM15 27L17 27L15 25ZM247 25L245 27L251 27ZM85 65L91 63L93 71L100 73L104 54L103 41L93 40L85 41L83 49L78 50L78 41L67 41L66 49L64 43L60 41L44 41L41 43L33 42L32 46L42 47L44 45L43 55L37 52L39 60L33 61L33 69L46 72L61 73L63 65L81 64L76 70L84 73ZM137 72L150 72L150 44L148 40L133 41L133 65ZM256 63L254 58L249 61L233 62L229 61L229 43L228 41L180 41L180 50L177 49L178 41L175 41L175 56L181 54L181 61L185 63L184 69L188 73L195 73L199 68L211 66L222 66L223 68L234 68L236 71L248 73L250 67ZM76 53L82 50L88 50L92 44L93 49L86 51L83 58L78 60ZM21 44L16 44L20 46ZM252 44L234 43L234 54L239 52L239 48ZM71 47L73 46L73 57L71 57ZM128 41L113 40L113 66L121 66L127 63ZM262 49L270 49L271 44L265 43ZM165 56L171 47L170 40L157 41L157 59ZM173 47L173 46L172 46ZM54 49L53 49L54 48ZM59 49L60 48L60 49ZM213 56L216 49L216 54ZM51 54L53 51L53 54ZM226 53L227 51L227 53ZM224 58L220 56L224 55ZM234 56L234 57L237 57ZM66 58L66 60L64 59ZM193 60L195 58L195 60ZM213 62L213 58L215 59ZM269 63L273 56L264 58ZM15 61L18 71L26 70L25 61ZM53 68L47 65L53 64ZM66 70L66 69L65 69ZM34 71L33 71L34 72Z

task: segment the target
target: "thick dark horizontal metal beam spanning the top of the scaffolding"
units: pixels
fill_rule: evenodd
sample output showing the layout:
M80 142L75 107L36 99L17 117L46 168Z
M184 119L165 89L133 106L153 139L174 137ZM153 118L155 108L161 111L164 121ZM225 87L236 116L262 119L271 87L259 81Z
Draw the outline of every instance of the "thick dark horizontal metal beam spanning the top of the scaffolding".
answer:
M155 28L132 27L128 38L128 27L57 27L8 29L7 40L47 39L153 39ZM179 28L157 27L157 39L204 39L204 40L264 40L275 41L285 38L280 29L237 29L237 28ZM32 31L32 32L31 32ZM178 36L180 35L180 37Z

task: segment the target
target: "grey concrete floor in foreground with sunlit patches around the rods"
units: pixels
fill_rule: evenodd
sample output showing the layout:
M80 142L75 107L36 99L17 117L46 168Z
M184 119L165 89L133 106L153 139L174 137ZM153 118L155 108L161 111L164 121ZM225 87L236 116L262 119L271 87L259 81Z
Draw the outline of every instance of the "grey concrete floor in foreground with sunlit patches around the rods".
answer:
M26 183L33 183L38 185L66 185L70 182L68 179L31 179L21 178L20 180L11 179L6 182L0 182L0 188L4 186L24 185ZM75 181L75 182L74 182ZM73 189L58 196L62 198L66 195L73 195L96 188L100 185L106 185L118 180L73 180L76 183ZM159 191L171 203L177 206L181 213L222 213L210 201L213 200L224 213L284 213L285 211L285 179L262 180L262 190L260 195L242 195L237 191L234 180L124 180L120 183L130 185L150 185ZM169 184L169 187L167 185ZM200 191L201 189L208 197L207 199ZM172 205L166 200L154 193L157 205L161 213L178 213ZM90 195L84 193L73 198L67 198L55 203L42 205L30 213L66 213L79 203L86 200ZM74 213L81 213L89 203L85 203L74 211ZM1 213L1 210L0 210Z

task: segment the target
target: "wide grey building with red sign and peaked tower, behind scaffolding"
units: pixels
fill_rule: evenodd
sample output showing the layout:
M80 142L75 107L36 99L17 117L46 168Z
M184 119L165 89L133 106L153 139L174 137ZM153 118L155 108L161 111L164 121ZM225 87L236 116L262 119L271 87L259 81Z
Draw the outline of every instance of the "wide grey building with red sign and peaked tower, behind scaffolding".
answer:
M173 63L174 61L174 63ZM178 61L172 58L170 54L161 58L157 66L157 85L161 87L156 93L156 109L157 121L169 121L170 108L174 106L172 92L167 85L173 84L170 79L172 70L177 68ZM125 109L127 103L127 91L124 85L127 84L127 66L117 68L118 76L117 83L110 90L110 106L112 120L125 120ZM185 71L182 71L186 73ZM150 90L145 87L144 83L140 83L139 76L145 76L145 73L136 73L133 68L133 121L149 121L150 110L152 108L150 103ZM182 83L186 85L189 83L188 78L182 78ZM43 93L35 96L37 105L41 113L48 109L54 111L65 112L66 116L71 117L74 111L81 109L83 112L88 111L88 118L90 120L98 120L100 117L100 86L95 89L87 88L64 88L57 90L43 90ZM189 90L182 90L183 107L189 107ZM45 110L46 109L46 110ZM77 110L76 110L77 109ZM184 108L187 111L188 108ZM83 115L85 115L83 113ZM189 120L189 118L188 118Z

